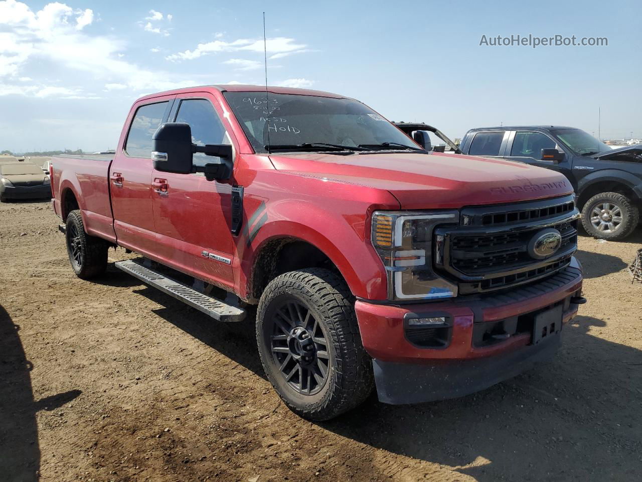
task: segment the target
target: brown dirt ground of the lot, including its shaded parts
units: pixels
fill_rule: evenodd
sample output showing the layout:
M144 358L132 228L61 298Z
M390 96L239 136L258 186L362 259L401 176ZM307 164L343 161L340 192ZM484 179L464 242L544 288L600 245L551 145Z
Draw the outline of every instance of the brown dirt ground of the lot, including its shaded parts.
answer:
M0 205L0 481L639 481L642 284L580 238L589 303L554 361L476 395L293 415L251 322L217 323L110 265L69 267L47 202ZM110 251L110 260L125 257Z

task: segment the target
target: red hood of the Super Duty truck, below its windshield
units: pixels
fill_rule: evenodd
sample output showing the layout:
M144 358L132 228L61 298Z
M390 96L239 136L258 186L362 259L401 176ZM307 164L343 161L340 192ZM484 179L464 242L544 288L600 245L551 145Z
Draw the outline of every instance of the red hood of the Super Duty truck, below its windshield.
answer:
M390 152L271 155L277 170L388 190L404 209L461 208L573 192L555 171L504 159Z

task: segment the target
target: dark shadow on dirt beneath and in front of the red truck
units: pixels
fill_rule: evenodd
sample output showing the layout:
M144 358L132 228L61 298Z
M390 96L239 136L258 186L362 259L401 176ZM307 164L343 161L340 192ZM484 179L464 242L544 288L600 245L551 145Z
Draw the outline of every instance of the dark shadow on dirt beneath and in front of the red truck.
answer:
M218 323L155 289L135 292L159 303L160 317L265 379L253 320ZM575 318L553 361L480 393L415 406L381 404L372 395L318 425L483 482L638 480L642 352L593 335L609 324Z

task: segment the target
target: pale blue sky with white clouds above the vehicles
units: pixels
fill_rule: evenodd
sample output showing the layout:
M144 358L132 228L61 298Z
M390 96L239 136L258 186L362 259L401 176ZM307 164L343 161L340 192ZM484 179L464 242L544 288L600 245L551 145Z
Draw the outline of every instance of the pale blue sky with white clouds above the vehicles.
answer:
M0 150L113 148L142 94L268 81L451 136L561 124L642 137L636 1L0 1ZM480 46L482 35L608 46Z

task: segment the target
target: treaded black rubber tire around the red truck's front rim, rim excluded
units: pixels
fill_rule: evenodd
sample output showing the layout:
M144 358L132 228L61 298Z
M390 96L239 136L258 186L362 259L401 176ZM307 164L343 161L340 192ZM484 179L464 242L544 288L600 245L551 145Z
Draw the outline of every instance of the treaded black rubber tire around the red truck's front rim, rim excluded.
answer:
M315 395L292 388L273 358L271 320L291 300L309 310L327 340L329 370ZM327 269L286 272L270 281L257 308L256 339L270 383L286 406L303 418L329 420L360 405L372 392L372 359L361 343L354 298L342 278Z

